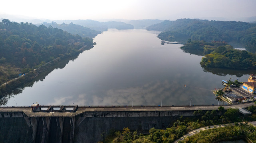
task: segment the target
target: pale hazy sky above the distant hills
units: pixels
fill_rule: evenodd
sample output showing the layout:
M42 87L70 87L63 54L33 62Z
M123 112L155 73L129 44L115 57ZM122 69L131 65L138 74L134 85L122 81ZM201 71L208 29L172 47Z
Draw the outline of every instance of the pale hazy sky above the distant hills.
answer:
M50 20L232 19L256 16L256 0L2 0L0 14Z

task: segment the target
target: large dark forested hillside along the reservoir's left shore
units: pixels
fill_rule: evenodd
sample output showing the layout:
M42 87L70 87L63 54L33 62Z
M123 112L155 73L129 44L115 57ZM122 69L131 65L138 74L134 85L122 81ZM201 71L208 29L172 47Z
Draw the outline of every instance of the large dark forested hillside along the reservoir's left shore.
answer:
M91 48L93 40L58 28L3 19L0 22L0 83L57 57L75 55L85 45Z

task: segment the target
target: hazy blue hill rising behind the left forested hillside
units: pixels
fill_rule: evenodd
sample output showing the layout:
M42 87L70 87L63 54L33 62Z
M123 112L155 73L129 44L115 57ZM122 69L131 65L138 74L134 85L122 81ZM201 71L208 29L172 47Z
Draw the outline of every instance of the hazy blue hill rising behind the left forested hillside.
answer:
M101 33L101 31L96 31L96 30L92 30L89 29L87 27L83 27L81 25L77 25L77 24L73 24L73 23L69 23L69 24L57 24L56 22L52 22L52 23L43 23L46 27L52 26L54 28L59 28L62 29L64 31L67 31L73 35L80 35L81 37L91 37L94 38L95 36L97 36L98 34Z

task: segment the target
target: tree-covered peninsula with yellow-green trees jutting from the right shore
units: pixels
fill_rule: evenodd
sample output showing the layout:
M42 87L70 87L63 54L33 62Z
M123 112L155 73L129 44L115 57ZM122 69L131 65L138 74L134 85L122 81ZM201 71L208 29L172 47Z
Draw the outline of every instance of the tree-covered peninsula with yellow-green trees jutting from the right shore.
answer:
M189 39L181 49L201 51L205 56L200 65L204 68L256 69L256 54L245 50L236 50L226 42L206 43Z

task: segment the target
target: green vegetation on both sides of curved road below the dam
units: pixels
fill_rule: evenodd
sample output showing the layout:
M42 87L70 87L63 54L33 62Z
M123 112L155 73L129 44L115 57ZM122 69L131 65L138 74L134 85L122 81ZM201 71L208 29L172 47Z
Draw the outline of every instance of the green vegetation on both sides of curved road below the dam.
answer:
M250 108L253 114L246 119L248 121L255 121L255 106ZM141 133L139 134L139 131L137 130L130 131L129 128L124 128L122 132L116 131L110 133L110 135L105 138L103 143L173 143L173 141L179 139L194 129L232 122L236 122L234 126L214 128L203 132L203 134L196 134L197 136L187 138L184 141L185 143L196 143L198 141L201 143L207 143L224 137L232 137L237 135L246 135L252 141L256 141L256 127L248 124L237 123L242 121L242 116L239 117L238 115L238 109L229 108L225 111L224 107L220 106L218 110L196 110L194 111L194 115L196 116L189 118L184 118L181 116L179 120L171 123L166 129L151 128L147 135ZM205 135L205 137L200 138L202 135Z

